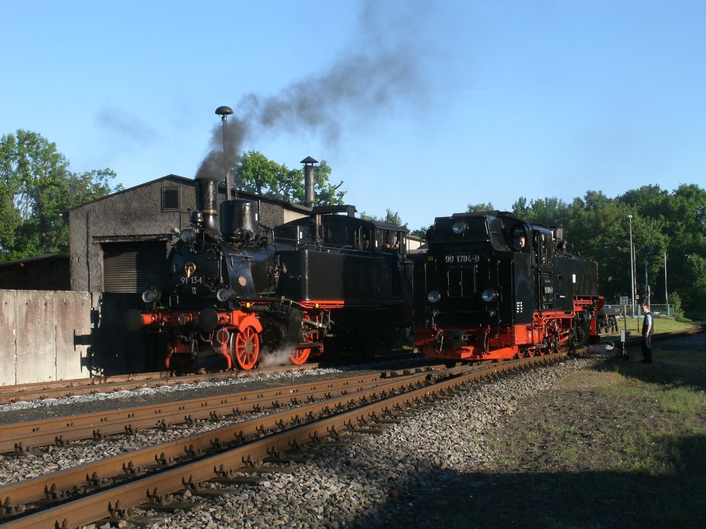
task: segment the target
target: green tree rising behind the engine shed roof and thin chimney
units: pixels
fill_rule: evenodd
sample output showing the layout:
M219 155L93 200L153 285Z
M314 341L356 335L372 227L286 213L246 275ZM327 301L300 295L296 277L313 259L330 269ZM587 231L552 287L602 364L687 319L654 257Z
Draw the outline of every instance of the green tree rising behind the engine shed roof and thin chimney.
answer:
M288 169L258 151L244 152L236 167L234 185L249 193L304 203L304 168ZM328 179L331 168L323 160L314 166L314 200L318 205L342 205L345 191L342 185L332 186Z

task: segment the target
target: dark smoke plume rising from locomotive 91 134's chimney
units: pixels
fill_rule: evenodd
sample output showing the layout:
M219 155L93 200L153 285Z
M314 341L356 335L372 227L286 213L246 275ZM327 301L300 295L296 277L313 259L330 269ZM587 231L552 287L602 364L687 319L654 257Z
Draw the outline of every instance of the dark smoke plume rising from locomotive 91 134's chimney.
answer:
M404 5L408 14L384 13L380 7L384 4L364 4L355 42L349 43L348 51L340 54L328 71L298 80L277 95L241 97L225 127L228 167L237 163L251 133L304 130L321 134L334 144L341 135L343 116L351 111L372 121L393 104L422 94L417 52L422 32L417 22L424 19L424 8L417 9L418 2L391 3L398 8ZM223 131L222 123L213 127L212 150L201 163L198 176L225 175Z

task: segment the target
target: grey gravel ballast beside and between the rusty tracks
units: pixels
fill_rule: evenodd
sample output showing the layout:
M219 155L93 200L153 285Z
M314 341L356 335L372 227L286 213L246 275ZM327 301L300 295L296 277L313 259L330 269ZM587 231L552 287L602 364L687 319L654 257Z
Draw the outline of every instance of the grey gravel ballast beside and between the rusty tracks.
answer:
M550 389L570 372L595 361L570 358L489 382L469 384L462 391L409 411L400 424L388 425L384 434L357 436L347 446L335 444L326 449L324 443L316 450L305 450L311 463L297 465L292 474L268 474L259 485L240 486L216 499L196 497L189 492L178 494L177 499L193 504L194 511L177 510L165 515L137 509L137 513L148 518L146 526L152 529L395 527L399 513L419 507L415 503L424 501L424 496L411 494L412 491L433 492L449 472L472 472L489 464L486 435L503 416L515 413L522 399ZM143 394L140 398L148 396ZM85 402L81 406L95 406L91 401L81 402ZM46 403L42 406L44 410L51 409ZM21 409L26 413L30 408ZM13 410L1 407L0 421L3 412ZM197 428L220 425L200 422L193 430L152 430L134 437L35 451L20 458L0 456L0 483L166 442Z

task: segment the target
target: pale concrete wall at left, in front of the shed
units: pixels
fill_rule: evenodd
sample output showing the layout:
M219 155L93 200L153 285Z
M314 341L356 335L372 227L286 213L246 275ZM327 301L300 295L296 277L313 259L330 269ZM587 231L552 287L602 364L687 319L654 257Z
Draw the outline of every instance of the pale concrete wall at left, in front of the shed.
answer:
M89 377L88 292L0 290L0 384Z

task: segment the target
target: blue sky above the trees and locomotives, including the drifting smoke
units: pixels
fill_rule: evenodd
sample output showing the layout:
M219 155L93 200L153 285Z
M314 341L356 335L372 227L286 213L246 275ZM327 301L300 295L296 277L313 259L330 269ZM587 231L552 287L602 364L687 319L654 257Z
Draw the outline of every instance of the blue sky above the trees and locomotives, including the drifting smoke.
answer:
M125 187L312 156L414 229L492 202L706 185L702 0L0 0L0 135ZM278 111L268 121L273 111Z

